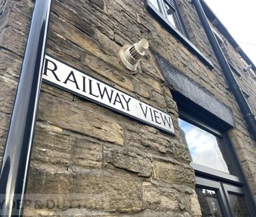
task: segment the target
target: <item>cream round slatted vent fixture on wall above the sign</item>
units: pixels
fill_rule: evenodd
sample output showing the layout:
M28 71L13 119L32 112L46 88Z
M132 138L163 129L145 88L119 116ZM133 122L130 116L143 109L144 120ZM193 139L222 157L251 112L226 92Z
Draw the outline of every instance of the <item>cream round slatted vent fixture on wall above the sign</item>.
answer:
M120 50L122 63L129 68L129 70L135 71L138 66L138 61L145 55L145 50L148 49L148 46L148 40L145 40L145 38L142 38L134 45L123 46Z

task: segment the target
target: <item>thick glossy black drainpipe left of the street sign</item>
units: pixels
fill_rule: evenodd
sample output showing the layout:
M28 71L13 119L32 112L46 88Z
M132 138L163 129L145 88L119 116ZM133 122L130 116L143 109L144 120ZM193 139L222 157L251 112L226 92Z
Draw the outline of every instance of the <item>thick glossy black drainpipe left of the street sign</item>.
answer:
M0 216L22 216L51 0L36 0L0 173Z

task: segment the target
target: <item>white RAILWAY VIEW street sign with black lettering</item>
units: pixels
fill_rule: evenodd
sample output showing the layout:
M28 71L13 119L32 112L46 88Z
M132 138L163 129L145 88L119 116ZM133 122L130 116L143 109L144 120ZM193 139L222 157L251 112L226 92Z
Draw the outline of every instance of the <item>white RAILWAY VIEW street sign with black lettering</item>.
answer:
M86 73L45 55L43 81L174 134L171 116Z

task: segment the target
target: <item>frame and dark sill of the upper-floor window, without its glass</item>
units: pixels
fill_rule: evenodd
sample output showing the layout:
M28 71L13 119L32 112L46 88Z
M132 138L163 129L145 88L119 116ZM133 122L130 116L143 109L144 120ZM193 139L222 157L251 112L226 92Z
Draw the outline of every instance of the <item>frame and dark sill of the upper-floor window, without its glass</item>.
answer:
M155 6L152 5L152 3L150 3L149 0L144 0L144 4L145 4L145 8L148 10L148 12L155 17L155 19L162 24L162 26L169 31L169 33L171 33L173 36L175 36L181 43L183 43L183 45L185 45L185 47L187 47L188 50L190 50L190 52L192 52L193 54L195 54L202 63L204 63L206 66L208 66L208 68L213 69L213 63L201 52L199 51L199 49L193 45L190 40L189 40L189 36L187 34L187 31L185 30L185 25L181 19L180 16L180 12L178 10L178 6L176 4L176 0L173 0L173 7L176 10L176 17L178 19L178 23L180 24L180 29L183 31L183 33L181 33L178 29L176 29L176 27L173 27L173 25L171 24L171 22L169 22L169 20L166 18L166 15L164 13L162 13L161 11L164 10L162 7L163 6L163 2L166 0L157 0L157 2L160 2L159 5L159 10L157 10L157 8L155 8ZM170 0L169 0L170 3Z

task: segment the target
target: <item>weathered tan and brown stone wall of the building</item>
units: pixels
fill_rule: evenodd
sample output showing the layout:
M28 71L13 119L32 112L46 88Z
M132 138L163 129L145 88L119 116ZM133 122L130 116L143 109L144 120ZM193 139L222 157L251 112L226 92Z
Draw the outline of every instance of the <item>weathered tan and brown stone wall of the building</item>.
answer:
M30 0L0 3L5 11L0 22L1 153L33 4ZM213 61L213 70L167 32L141 1L52 1L46 52L169 112L176 135L43 83L28 193L70 200L75 194L80 202L54 209L28 205L25 216L201 216L190 154L180 140L178 108L153 52L232 110L236 127L229 135L256 195L255 142L227 91L197 13L187 1L180 0L179 6L192 42ZM143 37L150 50L131 73L118 52L122 45Z

